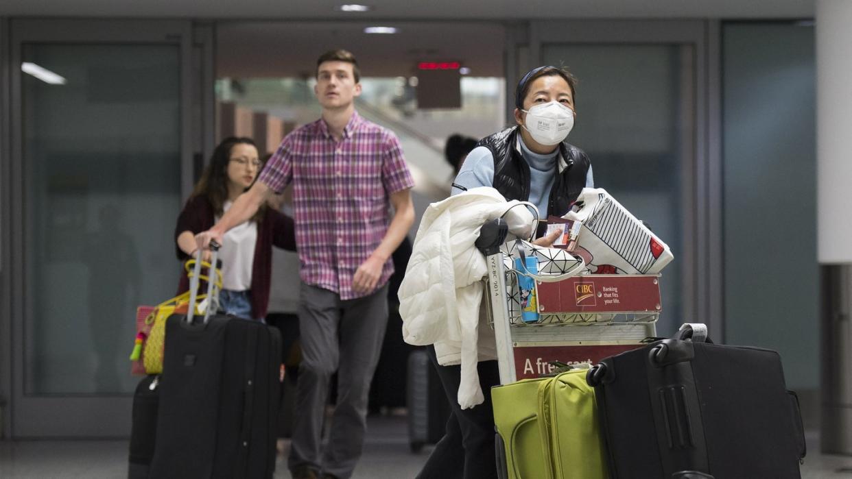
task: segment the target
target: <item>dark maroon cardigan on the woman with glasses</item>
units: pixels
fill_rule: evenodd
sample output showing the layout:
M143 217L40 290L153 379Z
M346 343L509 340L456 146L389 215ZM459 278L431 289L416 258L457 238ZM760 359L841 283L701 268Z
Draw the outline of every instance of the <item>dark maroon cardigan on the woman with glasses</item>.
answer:
M293 219L285 214L265 208L266 214L257 225L257 242L255 243L255 258L251 263L251 316L266 317L269 306L269 283L272 277L272 247L296 251L296 233L293 229ZM177 217L175 227L175 244L177 237L183 231L192 231L198 234L201 231L210 230L216 220L213 206L207 197L192 197L183 207L181 215ZM177 259L181 260L181 283L178 286L178 294L189 289L189 279L183 271L182 263L189 256L177 249Z

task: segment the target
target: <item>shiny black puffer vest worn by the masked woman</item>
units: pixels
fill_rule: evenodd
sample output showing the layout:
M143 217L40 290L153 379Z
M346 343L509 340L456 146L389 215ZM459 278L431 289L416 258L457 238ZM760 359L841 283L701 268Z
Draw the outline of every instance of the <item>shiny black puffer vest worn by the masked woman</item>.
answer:
M518 127L507 128L486 136L476 146L485 146L494 157L494 189L507 200L527 201L530 197L530 166L515 148L517 135ZM559 151L567 167L556 174L547 204L549 214L561 216L568 212L571 203L585 187L591 163L583 150L567 141L559 144Z

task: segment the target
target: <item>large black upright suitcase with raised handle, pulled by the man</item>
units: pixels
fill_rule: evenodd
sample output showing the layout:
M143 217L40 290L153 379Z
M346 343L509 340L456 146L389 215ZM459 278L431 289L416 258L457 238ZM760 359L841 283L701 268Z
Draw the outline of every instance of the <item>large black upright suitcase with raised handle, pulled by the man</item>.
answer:
M193 292L198 278L196 268ZM213 295L211 284L208 299ZM209 316L210 309L203 321L193 321L190 308L166 322L150 476L271 478L281 337L261 322Z

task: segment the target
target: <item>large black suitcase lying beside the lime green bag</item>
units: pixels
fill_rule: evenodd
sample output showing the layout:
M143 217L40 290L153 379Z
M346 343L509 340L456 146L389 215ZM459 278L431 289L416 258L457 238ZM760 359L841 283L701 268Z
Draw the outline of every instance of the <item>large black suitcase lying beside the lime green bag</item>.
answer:
M801 477L802 420L778 353L704 337L684 325L590 369L613 479Z

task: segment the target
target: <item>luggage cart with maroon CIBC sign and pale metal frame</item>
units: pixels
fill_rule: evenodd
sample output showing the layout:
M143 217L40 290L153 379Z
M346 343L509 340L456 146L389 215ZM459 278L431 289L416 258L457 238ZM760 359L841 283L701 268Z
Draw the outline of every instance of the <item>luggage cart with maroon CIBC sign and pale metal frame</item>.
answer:
M579 275L535 282L538 320L521 316L518 275L501 251L506 227L483 225L489 318L497 343L500 384L549 374L551 361L590 362L629 351L656 336L662 311L659 275ZM509 263L510 265L510 263Z

